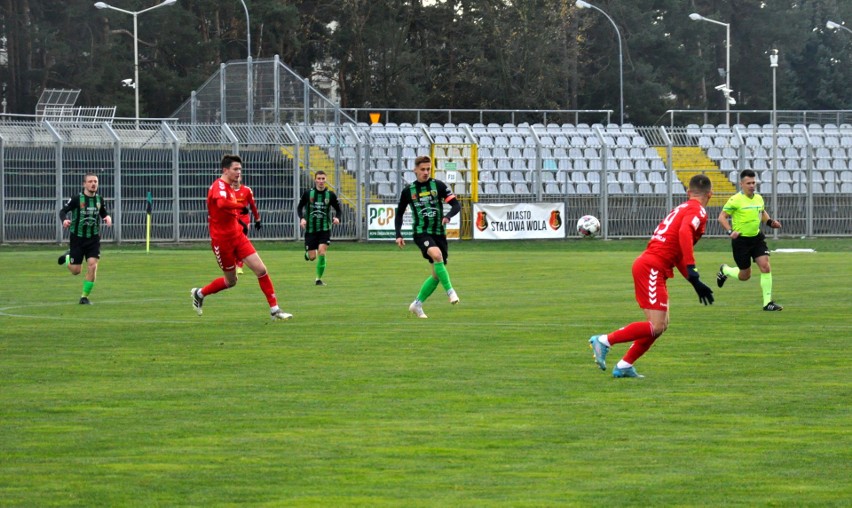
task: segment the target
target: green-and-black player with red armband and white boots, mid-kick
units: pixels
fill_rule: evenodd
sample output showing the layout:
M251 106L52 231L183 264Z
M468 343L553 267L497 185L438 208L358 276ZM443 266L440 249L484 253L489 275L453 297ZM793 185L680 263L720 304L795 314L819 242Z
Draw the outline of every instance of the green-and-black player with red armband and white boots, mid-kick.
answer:
M402 188L394 226L396 244L401 249L405 246L405 240L402 238L402 217L405 209L411 207L414 243L420 247L423 257L432 265L432 275L423 282L420 293L408 306L408 311L419 318L426 318L423 302L435 291L439 282L447 291L450 303L459 303L446 267L449 252L444 226L461 211L461 204L444 182L432 178L432 160L428 156L421 155L414 159L414 176L417 180ZM447 215L444 215L444 203L450 205Z

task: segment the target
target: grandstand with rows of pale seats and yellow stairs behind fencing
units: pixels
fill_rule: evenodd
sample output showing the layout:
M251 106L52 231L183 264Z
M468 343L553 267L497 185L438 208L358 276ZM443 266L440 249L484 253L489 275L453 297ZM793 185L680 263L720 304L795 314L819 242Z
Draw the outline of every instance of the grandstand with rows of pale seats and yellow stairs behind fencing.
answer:
M345 205L339 239L366 238L366 209L394 204L413 180L413 161L434 153L453 190L480 203L561 202L566 217L598 216L605 237L646 237L659 217L685 195L684 182L704 173L714 181L711 217L736 191L738 173L754 169L759 192L785 235L852 234L852 124L791 123L633 126L609 122L559 122L599 111L517 111L531 121L366 123L318 96L276 60L256 61L255 84L263 100L242 101L233 86L224 94L223 66L208 81L213 90L193 92L168 121L104 119L83 122L65 115L4 116L0 121L0 243L59 242L64 232L55 211L79 190L82 174L101 174L102 192L115 200L115 228L106 240L144 239L147 191L155 191L154 239L206 239L203 196L217 176L222 153L246 160L246 179L264 214L262 237L296 239L293 220L300 189L311 171L323 169ZM242 64L244 65L244 64ZM262 72L261 72L262 70ZM278 72L276 77L275 73ZM243 75L245 72L243 71ZM275 88L270 88L270 87ZM299 88L302 87L302 88ZM219 93L220 95L216 95ZM307 100L306 100L307 98ZM202 100L203 99L203 100ZM239 118L255 104L269 123L199 123L198 118ZM216 108L204 109L204 107ZM222 111L227 114L220 114ZM411 117L421 118L421 112ZM495 121L490 121L491 117ZM504 116L504 115L503 115ZM537 117L540 121L535 121ZM837 118L848 118L848 112ZM404 115L400 114L400 117ZM785 116L789 117L789 115ZM804 117L802 117L804 118ZM475 147L459 150L460 146ZM471 160L471 154L475 160ZM474 170L475 168L475 170ZM448 178L447 178L448 179ZM468 221L469 224L469 221ZM708 234L723 232L711 221ZM464 235L464 231L462 232Z

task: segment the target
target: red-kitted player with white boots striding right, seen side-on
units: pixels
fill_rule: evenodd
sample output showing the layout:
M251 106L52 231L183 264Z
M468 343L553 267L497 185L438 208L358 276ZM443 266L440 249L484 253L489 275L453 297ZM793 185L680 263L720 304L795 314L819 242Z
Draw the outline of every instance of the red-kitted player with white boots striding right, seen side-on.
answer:
M216 255L216 262L224 272L224 277L214 279L203 288L192 288L192 308L200 316L204 298L219 291L234 287L237 283L236 264L242 260L257 275L260 289L269 302L269 313L273 320L290 319L292 314L278 307L278 298L272 280L266 272L266 265L260 259L251 241L243 232L243 226L237 220L240 210L245 206L237 202L233 183L240 179L243 161L237 155L222 157L222 176L217 178L207 191L207 222L210 226L210 246Z

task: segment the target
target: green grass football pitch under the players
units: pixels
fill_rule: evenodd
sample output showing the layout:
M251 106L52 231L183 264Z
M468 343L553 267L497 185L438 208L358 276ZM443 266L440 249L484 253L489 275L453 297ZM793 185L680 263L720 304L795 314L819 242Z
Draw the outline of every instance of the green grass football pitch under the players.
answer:
M205 245L105 245L94 305L62 247L0 247L0 505L849 506L852 241L772 256L704 307L669 281L671 326L615 380L587 347L642 319L644 241L453 244L461 297L407 307L409 244L259 244L256 281L190 306ZM703 240L716 289L729 243ZM626 351L616 346L610 365Z

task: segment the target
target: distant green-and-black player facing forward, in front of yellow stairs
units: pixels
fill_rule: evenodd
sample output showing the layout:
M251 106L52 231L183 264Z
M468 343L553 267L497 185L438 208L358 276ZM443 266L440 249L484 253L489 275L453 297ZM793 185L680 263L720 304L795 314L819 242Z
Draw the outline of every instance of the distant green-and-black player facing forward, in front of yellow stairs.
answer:
M331 216L334 208L335 216ZM305 230L305 261L317 259L317 286L325 286L325 253L331 242L331 226L340 224L340 202L337 194L325 186L325 171L314 174L314 186L302 193L296 207L299 225Z

